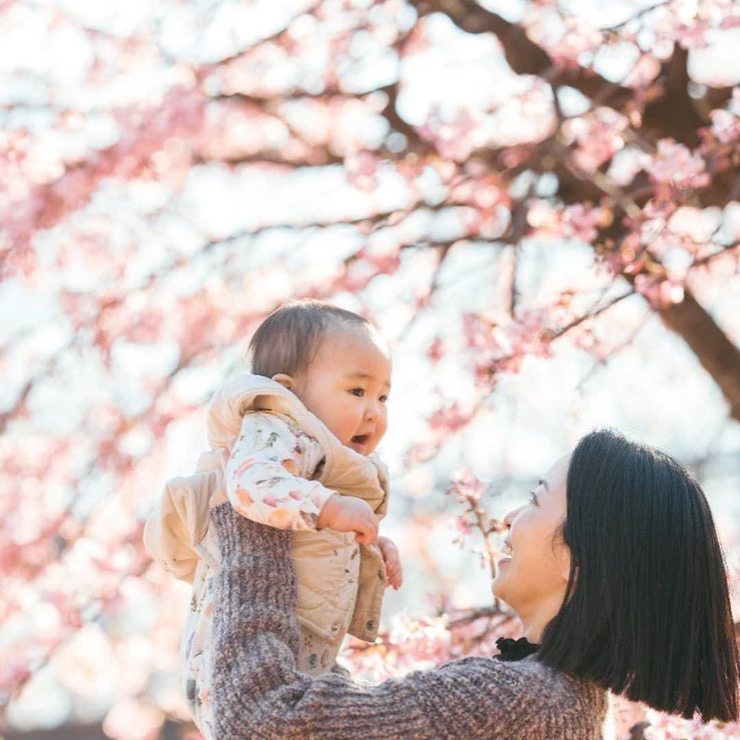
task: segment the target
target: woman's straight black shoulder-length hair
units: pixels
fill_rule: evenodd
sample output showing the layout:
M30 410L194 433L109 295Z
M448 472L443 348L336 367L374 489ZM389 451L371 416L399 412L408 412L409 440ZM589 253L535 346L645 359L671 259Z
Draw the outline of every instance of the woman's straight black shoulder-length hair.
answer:
M740 660L707 499L662 451L610 430L571 456L571 573L539 660L658 710L738 719Z

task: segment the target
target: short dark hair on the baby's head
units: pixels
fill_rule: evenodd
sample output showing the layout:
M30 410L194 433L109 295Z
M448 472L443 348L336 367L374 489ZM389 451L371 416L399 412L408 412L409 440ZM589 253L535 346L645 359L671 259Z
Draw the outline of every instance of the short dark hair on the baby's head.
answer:
M366 318L323 300L292 300L275 309L258 326L246 360L255 375L295 376L308 369L332 329L368 330Z

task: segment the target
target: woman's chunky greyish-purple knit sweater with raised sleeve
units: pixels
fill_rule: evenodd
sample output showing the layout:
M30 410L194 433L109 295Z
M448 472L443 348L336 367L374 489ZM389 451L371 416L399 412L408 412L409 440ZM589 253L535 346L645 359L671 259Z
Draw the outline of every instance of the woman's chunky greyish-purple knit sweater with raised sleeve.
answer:
M290 533L212 510L217 740L601 740L604 690L545 667L469 657L380 685L296 669Z

